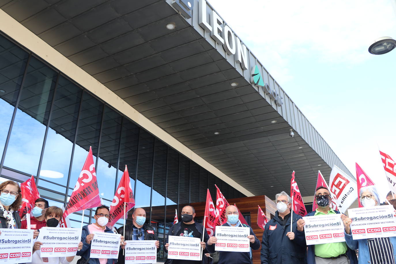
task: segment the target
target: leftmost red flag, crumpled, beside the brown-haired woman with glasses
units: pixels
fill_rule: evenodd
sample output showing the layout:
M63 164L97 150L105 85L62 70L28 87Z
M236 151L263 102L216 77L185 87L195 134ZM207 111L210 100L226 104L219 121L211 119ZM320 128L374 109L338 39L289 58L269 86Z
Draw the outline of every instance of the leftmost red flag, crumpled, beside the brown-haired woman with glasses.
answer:
M34 207L35 201L40 198L40 194L38 193L36 182L34 182L34 177L30 177L30 179L21 183L21 196L22 196L22 205L19 210L19 216L23 218L26 214L30 214Z

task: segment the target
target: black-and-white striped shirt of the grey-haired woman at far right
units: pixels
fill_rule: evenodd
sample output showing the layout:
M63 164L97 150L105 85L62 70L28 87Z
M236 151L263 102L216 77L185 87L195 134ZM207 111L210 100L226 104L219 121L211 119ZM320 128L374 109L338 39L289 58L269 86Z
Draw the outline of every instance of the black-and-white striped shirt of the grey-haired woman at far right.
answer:
M372 264L395 264L389 237L367 239Z

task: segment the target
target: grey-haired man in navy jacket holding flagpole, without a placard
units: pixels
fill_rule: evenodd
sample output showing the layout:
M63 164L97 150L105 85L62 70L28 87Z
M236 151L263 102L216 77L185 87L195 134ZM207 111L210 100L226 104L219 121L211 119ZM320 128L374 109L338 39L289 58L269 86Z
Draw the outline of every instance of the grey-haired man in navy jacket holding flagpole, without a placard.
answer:
M305 263L304 233L297 233L297 220L300 215L293 213L290 231L291 198L286 192L275 196L275 217L268 221L264 228L261 242L261 264L303 264ZM296 234L298 234L296 236Z

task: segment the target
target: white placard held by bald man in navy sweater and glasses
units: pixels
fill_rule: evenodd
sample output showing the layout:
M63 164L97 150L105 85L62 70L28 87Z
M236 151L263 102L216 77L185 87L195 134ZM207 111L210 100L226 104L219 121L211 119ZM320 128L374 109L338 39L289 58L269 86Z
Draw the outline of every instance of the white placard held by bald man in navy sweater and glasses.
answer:
M250 252L250 228L216 226L215 251Z

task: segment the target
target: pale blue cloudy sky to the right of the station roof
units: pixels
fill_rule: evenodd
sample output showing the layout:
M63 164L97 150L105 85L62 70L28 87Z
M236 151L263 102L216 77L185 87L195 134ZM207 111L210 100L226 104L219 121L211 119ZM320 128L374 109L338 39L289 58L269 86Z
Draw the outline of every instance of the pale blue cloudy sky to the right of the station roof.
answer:
M282 86L341 161L381 187L378 148L396 159L396 0L208 0ZM329 176L329 175L325 175Z

